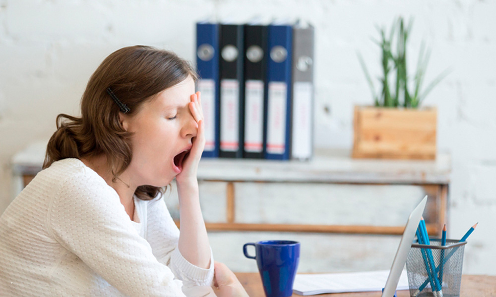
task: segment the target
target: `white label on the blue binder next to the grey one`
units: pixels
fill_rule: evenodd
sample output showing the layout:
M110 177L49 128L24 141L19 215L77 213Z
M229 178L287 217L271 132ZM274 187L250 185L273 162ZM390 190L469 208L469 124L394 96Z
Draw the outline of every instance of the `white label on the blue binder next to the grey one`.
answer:
M267 152L282 154L286 148L287 84L270 82L268 90Z

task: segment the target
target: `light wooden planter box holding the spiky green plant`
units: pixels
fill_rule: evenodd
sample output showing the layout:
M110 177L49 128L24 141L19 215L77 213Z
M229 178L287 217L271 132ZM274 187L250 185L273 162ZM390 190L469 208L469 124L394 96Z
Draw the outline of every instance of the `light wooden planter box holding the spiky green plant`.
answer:
M354 158L435 159L437 110L356 106Z

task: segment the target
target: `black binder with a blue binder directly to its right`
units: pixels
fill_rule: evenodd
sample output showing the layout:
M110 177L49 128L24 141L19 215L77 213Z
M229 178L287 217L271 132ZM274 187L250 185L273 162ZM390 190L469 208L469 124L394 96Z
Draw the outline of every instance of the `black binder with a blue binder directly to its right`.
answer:
M267 26L245 25L245 139L243 157L263 158L266 121Z

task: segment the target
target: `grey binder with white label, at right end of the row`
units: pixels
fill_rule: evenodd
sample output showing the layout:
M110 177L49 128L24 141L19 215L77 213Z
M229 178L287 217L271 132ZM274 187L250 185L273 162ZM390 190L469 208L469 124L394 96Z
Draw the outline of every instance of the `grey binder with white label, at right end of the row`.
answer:
M313 45L313 26L298 22L293 27L292 159L310 160L313 154Z

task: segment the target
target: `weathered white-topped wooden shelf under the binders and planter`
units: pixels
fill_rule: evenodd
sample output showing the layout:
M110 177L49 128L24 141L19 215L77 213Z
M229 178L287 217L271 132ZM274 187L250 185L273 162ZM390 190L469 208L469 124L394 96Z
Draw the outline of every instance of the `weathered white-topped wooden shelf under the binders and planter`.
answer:
M16 154L12 159L14 176L19 177L22 187L27 185L41 170L44 159L45 143L36 143ZM225 183L226 217L222 223L206 222L212 231L267 231L267 232L314 232L347 234L384 234L400 235L403 223L398 226L361 225L321 225L293 223L240 222L237 220L237 198L240 193L237 185L256 183L262 190L276 185L281 189L287 185L411 185L430 197L426 207L428 231L440 233L447 219L448 186L450 181L451 160L449 154L438 153L435 160L384 160L353 159L349 150L322 149L308 162L275 161L253 159L208 159L200 161L198 180L202 183ZM298 186L298 187L300 187ZM265 188L263 188L265 187ZM313 187L313 186L311 186ZM241 187L243 189L243 187ZM299 188L301 189L301 188ZM308 188L307 188L308 189ZM350 193L353 194L354 189ZM20 191L20 190L19 190ZM366 194L368 195L368 194ZM264 195L260 197L265 197ZM222 198L222 197L221 197ZM375 195L375 199L380 195ZM421 197L415 197L415 199ZM238 201L239 202L239 201ZM339 210L337 210L339 211ZM263 220L261 220L263 221ZM406 221L406 218L405 218ZM399 222L399 220L397 220Z

